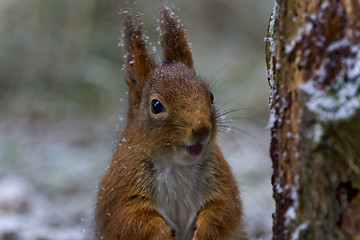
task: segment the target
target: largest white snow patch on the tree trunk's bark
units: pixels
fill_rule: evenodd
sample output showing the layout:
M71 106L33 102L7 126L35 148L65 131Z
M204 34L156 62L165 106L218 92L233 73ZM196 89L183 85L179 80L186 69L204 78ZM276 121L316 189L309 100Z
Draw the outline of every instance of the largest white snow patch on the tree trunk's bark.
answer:
M342 39L330 44L328 51L348 47L349 44L348 40ZM315 72L317 81L309 79L300 86L309 97L306 102L307 108L321 121L346 119L360 108L360 46L352 46L350 50L353 56L343 60L344 70L325 89L319 89L317 82L322 82L326 78L325 66L330 59L326 59Z

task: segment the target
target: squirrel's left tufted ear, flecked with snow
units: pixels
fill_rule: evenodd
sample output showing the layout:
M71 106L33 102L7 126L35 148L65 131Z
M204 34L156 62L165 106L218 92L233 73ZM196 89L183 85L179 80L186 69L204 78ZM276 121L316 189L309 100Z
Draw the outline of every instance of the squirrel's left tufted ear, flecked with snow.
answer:
M140 93L153 67L153 60L146 49L145 36L138 18L133 19L129 11L123 11L123 44L126 53L125 80L129 86L130 104L140 102Z

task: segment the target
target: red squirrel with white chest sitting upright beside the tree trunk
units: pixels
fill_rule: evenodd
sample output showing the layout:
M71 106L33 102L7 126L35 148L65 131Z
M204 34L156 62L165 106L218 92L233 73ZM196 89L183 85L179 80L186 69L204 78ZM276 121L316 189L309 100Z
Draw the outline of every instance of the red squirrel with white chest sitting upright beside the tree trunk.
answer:
M185 29L160 6L163 62L124 13L126 124L99 183L104 240L247 239L236 180L216 140L214 96L195 73Z

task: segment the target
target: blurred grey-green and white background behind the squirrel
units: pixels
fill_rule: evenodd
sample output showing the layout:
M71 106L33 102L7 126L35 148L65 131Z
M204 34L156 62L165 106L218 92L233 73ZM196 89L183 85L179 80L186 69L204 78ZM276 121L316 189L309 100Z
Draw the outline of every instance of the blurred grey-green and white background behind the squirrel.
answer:
M160 61L158 2L143 13ZM197 73L227 112L219 134L252 239L271 238L264 37L271 0L167 0ZM0 239L92 237L97 182L124 123L122 0L0 0Z

